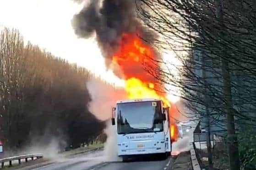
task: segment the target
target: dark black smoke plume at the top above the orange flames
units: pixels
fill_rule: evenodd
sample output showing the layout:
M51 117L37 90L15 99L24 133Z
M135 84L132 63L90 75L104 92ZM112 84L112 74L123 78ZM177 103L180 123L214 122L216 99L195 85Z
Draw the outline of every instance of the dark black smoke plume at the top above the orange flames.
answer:
M88 38L96 34L107 66L112 54L119 48L124 32L136 33L147 42L152 42L155 37L137 19L136 1L138 0L90 0L72 20L79 37Z

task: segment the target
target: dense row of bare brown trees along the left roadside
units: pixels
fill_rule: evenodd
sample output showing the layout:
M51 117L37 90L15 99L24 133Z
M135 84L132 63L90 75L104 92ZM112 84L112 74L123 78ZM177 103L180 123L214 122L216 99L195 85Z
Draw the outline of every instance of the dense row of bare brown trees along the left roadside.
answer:
M47 143L52 136L79 147L97 138L104 122L87 108L90 76L82 67L25 45L17 30L0 32L0 136L5 147Z

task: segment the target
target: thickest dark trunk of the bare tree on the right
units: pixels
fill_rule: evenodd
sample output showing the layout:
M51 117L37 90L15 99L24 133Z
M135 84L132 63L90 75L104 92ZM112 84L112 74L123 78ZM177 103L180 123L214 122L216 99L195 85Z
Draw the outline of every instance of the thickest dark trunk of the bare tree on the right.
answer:
M220 20L223 19L223 7L222 0L216 1L216 14L217 18ZM222 27L223 28L223 27ZM224 37L222 32L221 37ZM240 170L240 159L239 159L239 150L238 150L238 140L235 134L235 125L234 125L234 114L232 114L232 94L231 94L231 80L229 72L229 63L223 57L228 57L223 49L221 54L221 64L222 64L222 76L223 76L223 100L225 101L225 113L227 118L227 144L228 144L228 153L229 153L229 166L230 170Z

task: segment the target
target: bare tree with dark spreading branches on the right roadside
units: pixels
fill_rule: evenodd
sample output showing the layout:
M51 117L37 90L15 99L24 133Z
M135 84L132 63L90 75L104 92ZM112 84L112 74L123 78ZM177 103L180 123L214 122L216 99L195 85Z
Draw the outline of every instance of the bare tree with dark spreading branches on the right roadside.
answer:
M139 17L160 34L155 47L173 50L181 62L178 79L159 68L160 79L180 88L191 111L227 130L231 170L240 168L236 128L256 126L255 5L252 0L137 1Z

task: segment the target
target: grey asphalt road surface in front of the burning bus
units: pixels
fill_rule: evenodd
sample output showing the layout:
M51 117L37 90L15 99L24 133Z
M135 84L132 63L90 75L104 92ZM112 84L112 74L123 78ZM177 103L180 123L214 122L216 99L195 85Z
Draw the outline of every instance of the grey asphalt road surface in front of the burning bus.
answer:
M170 170L174 159L143 158L129 162L106 161L103 151L76 155L70 158L55 160L46 165L26 167L22 170Z

